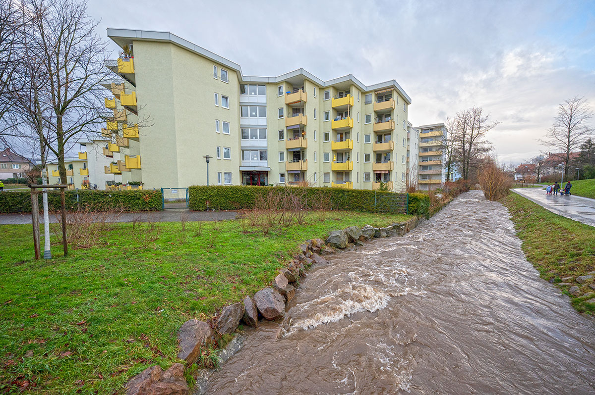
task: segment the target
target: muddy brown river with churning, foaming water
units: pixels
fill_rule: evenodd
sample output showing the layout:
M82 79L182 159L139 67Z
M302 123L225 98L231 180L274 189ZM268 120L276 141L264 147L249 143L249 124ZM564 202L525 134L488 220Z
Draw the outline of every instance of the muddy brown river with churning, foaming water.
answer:
M595 324L525 260L479 191L408 235L313 267L208 394L594 394Z

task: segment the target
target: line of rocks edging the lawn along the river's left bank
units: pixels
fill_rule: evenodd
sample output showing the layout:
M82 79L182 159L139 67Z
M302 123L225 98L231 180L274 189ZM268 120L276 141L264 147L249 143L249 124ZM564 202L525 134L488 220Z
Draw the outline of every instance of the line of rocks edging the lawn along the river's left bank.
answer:
M313 264L325 265L324 255L364 245L373 238L405 235L418 225L418 219L394 223L387 227L366 225L334 230L328 238L311 239L299 246L299 252L275 277L270 287L259 290L250 298L246 296L221 309L214 320L188 320L178 330L180 351L177 358L190 366L198 361L201 352L217 344L221 335L233 333L240 323L256 327L259 319L277 320L284 317L287 302L292 300L299 286L299 279L306 275ZM155 365L133 377L126 385L127 395L187 395L189 388L184 379L184 365L174 364L166 371Z

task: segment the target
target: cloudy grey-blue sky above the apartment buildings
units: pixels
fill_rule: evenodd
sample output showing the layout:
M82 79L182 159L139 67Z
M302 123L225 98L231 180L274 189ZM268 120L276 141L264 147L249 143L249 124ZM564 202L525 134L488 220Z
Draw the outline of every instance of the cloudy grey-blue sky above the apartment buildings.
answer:
M547 150L537 139L564 99L595 108L595 1L89 0L89 14L102 33L171 31L244 75L397 80L414 126L482 106L506 163Z

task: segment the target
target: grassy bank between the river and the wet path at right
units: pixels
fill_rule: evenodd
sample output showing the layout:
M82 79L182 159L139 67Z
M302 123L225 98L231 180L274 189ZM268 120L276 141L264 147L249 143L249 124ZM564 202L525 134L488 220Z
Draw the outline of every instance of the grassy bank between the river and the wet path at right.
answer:
M554 214L515 193L502 203L511 213L527 260L543 279L560 283L564 277L595 270L595 227ZM584 293L593 291L587 284L575 285ZM568 294L566 289L563 292ZM578 311L595 315L595 299L569 296Z

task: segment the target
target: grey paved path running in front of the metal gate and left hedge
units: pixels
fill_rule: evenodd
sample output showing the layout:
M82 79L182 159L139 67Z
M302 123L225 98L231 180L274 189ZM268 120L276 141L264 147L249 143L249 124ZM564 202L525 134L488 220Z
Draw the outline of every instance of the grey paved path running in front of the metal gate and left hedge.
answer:
M67 213L68 215L68 213ZM164 211L146 211L143 213L122 213L114 215L109 222L180 222L182 217L187 221L222 221L236 219L235 211L190 211L187 208L168 208ZM43 220L43 217L40 218ZM50 222L58 222L54 215ZM0 214L0 225L24 225L31 223L31 213Z

